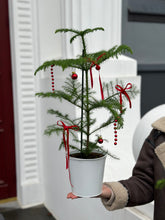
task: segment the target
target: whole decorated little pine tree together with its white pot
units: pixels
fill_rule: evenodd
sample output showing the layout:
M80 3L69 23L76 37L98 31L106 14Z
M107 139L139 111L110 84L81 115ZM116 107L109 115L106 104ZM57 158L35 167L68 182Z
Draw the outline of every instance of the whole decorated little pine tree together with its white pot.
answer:
M99 135L99 130L113 124L115 132L114 144L117 144L117 130L123 127L123 114L126 110L122 103L122 94L128 99L131 107L130 98L135 97L138 92L136 86L130 83L125 88L123 88L123 85L116 85L115 92L112 92L114 91L112 82L102 85L99 74L101 98L97 99L95 97L95 91L92 88L93 68L99 71L100 64L107 59L118 57L118 55L125 52L132 53L131 49L126 45L114 46L107 51L87 53L85 37L87 34L98 30L103 31L104 29L96 27L84 31L73 29L56 30L55 33L71 32L73 36L70 39L70 43L79 37L82 42L82 53L75 59L44 62L35 71L36 75L40 70L50 68L52 77L52 91L46 93L39 92L36 94L37 96L65 100L80 111L80 117L72 118L69 116L69 113L64 114L58 111L58 109L49 109L48 113L55 115L59 118L59 121L48 126L45 134L52 135L56 133L62 136L59 149L64 147L66 151L66 168L69 170L72 192L81 197L92 197L101 193L106 155L115 157L103 148L103 142L106 140ZM72 75L66 78L62 90L54 89L53 70L56 66L60 66L63 70L67 68L73 68L74 70ZM77 79L76 69L81 70L81 81ZM128 89L127 92L126 89ZM96 118L92 117L92 115L95 110L101 108L109 111L109 117L100 126L95 127ZM70 136L72 136L74 144L69 143ZM95 137L95 140L93 137Z

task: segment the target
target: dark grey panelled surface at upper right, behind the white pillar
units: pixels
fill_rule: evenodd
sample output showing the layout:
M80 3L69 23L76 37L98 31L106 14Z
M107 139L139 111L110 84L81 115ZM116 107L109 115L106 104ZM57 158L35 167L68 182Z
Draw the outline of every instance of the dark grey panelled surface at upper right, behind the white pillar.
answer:
M142 77L141 116L165 103L165 0L122 1L122 43Z

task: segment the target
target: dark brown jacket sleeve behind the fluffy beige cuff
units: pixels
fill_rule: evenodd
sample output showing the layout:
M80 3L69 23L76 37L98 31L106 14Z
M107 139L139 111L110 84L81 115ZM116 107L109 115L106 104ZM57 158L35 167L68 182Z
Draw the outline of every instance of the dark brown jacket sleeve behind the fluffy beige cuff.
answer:
M148 141L148 139L152 139L152 133L142 146L132 177L128 180L120 181L128 190L128 207L149 203L154 198L153 162L155 152L154 147Z

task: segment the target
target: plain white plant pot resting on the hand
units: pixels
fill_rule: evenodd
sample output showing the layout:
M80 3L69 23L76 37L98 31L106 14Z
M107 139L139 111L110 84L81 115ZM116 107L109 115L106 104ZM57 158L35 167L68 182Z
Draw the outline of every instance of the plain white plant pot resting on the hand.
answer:
M80 197L101 194L106 155L95 159L80 159L70 155L72 193Z

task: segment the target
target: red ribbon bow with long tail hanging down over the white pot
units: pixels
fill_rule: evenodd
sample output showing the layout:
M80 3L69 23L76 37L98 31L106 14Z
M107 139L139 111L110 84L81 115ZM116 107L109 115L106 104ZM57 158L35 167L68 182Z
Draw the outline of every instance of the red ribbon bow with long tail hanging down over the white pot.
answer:
M61 122L61 124L59 124L60 122ZM63 141L64 141L65 152L66 152L66 169L69 169L69 129L78 131L79 127L77 125L66 126L63 121L58 121L57 125L63 127L63 129L64 129L63 130ZM76 129L74 129L74 128L76 128ZM67 135L65 135L65 131L67 132ZM67 140L65 139L65 136L67 136ZM71 183L70 171L69 171L69 180ZM71 186L72 186L72 184L71 184Z

